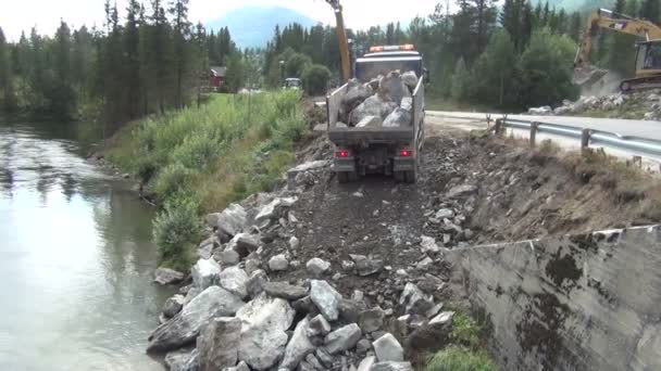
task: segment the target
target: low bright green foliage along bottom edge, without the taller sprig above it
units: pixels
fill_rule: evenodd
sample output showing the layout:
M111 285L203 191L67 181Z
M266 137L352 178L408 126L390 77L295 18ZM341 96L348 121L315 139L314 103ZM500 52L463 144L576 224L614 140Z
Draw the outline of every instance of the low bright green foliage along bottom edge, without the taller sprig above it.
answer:
M497 371L498 368L485 351L471 351L458 346L450 346L434 355L425 370Z

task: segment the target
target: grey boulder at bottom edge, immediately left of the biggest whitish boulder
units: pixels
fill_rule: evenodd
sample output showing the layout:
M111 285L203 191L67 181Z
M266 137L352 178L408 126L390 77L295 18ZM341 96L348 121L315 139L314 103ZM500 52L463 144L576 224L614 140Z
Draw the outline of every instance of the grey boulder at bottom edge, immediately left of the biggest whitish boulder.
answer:
M237 318L212 319L197 340L200 371L216 371L236 366L241 321Z

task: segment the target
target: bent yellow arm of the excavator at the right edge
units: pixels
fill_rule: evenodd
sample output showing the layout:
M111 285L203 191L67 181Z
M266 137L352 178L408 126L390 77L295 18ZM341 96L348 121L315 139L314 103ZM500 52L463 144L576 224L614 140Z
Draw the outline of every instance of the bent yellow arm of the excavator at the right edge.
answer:
M639 36L646 41L661 39L661 28L653 23L645 20L637 20L628 15L614 13L607 9L594 11L585 26L583 40L578 47L576 59L574 60L574 68L583 68L589 60L590 50L593 49L593 38L599 29L612 30L615 33Z

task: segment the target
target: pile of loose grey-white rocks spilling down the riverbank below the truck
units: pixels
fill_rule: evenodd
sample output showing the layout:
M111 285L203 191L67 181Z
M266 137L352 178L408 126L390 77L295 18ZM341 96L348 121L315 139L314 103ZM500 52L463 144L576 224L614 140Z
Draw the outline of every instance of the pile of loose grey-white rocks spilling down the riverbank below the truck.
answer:
M406 360L411 349L446 345L453 312L429 294L444 282L426 269L419 279L372 256L350 255L336 267L292 255L305 246L290 232L299 223L291 208L324 172L329 164L297 166L288 188L207 216L210 235L190 274L158 271L161 283L187 285L165 302L148 351L166 353L170 369L180 371L388 371L413 370ZM274 251L274 239L287 248ZM424 239L425 256L442 254L433 245ZM389 271L397 279L377 282ZM374 278L374 293L342 296L336 277L344 274Z

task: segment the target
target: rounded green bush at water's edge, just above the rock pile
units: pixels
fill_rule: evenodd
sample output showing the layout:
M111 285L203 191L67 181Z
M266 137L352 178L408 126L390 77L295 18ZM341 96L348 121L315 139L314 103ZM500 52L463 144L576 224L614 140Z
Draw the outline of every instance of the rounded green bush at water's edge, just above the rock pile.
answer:
M173 268L188 269L191 263L194 242L202 232L198 217L198 203L182 197L165 204L153 221L153 239L161 261Z

